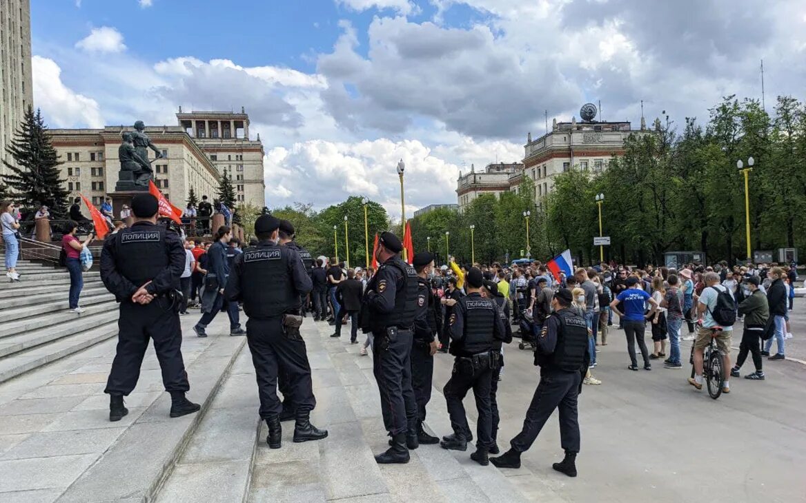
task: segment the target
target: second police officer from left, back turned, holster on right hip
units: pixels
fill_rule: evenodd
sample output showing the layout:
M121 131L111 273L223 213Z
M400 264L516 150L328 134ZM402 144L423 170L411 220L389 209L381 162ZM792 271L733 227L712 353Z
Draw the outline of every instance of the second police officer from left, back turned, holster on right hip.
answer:
M227 279L224 297L243 300L247 321L247 343L252 354L260 394L260 417L268 424L266 442L280 448L282 405L277 398L278 367L285 369L289 394L296 405L294 442L324 439L327 431L310 423L316 405L308 354L299 327L302 317L300 295L310 291L311 282L297 251L277 245L280 221L261 215L255 222L260 241L235 258L235 270Z

